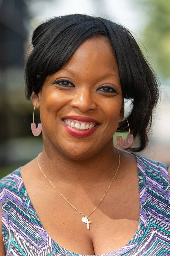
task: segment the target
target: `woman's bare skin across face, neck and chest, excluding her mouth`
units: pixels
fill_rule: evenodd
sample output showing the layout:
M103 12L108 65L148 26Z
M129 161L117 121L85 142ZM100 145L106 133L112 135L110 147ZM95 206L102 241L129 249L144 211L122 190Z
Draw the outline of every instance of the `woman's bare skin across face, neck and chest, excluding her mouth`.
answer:
M56 82L59 79L71 84ZM83 42L61 70L46 77L32 101L40 109L42 170L88 215L116 172L118 154L113 135L124 116L119 70L108 39L100 36ZM90 117L100 125L89 137L77 138L64 128L62 118L68 115ZM39 219L60 246L79 254L104 254L121 248L134 236L139 222L137 163L133 155L119 152L119 170L104 200L89 217L90 230L81 221L82 215L42 175L37 158L22 167L22 179Z

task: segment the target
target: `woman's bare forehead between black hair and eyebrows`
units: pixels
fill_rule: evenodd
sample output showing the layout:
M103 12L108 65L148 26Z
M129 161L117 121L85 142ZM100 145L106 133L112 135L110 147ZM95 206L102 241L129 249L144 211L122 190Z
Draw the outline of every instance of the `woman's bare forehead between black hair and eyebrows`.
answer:
M114 74L119 78L117 60L107 37L95 36L84 41L61 70L91 72L96 75Z

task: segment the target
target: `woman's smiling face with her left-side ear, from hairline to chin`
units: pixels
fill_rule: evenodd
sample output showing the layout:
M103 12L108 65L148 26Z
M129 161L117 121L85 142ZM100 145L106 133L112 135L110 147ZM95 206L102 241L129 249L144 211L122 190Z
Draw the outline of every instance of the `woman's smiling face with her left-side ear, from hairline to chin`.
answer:
M71 159L86 159L105 146L123 119L119 70L106 37L87 39L33 95L40 108L43 142Z

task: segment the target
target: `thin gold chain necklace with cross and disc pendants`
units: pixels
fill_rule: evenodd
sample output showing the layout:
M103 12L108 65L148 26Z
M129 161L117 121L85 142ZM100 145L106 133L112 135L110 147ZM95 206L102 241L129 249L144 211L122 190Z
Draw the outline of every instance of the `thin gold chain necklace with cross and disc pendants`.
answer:
M117 150L117 148L115 148L115 149ZM118 166L117 166L117 170L116 170L116 172L115 172L115 174L114 174L114 177L113 177L113 179L111 180L111 182L110 182L110 184L109 184L109 186L108 186L106 192L104 193L104 196L103 196L102 199L100 200L100 202L96 205L96 207L93 209L93 211L91 211L88 215L84 215L82 212L80 212L76 207L73 206L73 204L71 204L71 203L66 199L66 197L63 196L63 194L60 193L60 191L53 185L53 183L47 178L47 176L45 175L45 173L44 173L44 172L42 171L42 169L41 169L41 166L40 166L40 164L39 164L39 155L40 155L41 153L39 153L39 155L38 155L38 157L37 157L37 163L38 163L39 169L41 170L42 174L46 177L46 179L48 180L48 182L57 190L57 192L60 194L60 196L62 196L62 197L66 200L66 202L67 202L68 204L70 204L70 206L72 206L77 212L79 212L81 215L83 215L83 217L82 217L81 220L82 220L85 224L87 224L87 229L88 229L88 230L89 230L89 223L91 223L91 221L89 221L89 216L96 210L96 208L97 208L97 207L99 206L99 204L102 202L102 200L104 199L105 195L107 194L107 191L109 190L109 188L110 188L110 186L111 186L111 183L113 182L114 178L116 177L116 174L117 174L117 171L118 171L118 169L119 169L120 162L121 162L121 156L120 156L118 150L117 150L117 153L118 153L118 155L119 155L119 164L118 164Z

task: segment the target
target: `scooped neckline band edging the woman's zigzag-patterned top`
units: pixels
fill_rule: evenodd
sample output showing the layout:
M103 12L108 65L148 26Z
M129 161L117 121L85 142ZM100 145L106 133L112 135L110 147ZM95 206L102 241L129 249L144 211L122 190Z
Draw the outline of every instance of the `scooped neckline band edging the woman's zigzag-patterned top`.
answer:
M34 228L37 230L37 232L39 233L39 235L42 237L42 240L44 240L44 242L46 242L46 244L49 245L49 247L51 247L55 252L58 252L64 256L119 256L122 255L124 253L127 253L128 251L131 251L134 247L137 246L137 244L140 242L140 240L142 239L143 235L144 235L144 231L146 229L147 226L147 208L146 208L146 204L145 202L147 201L147 187L146 187L146 174L145 174L145 167L144 164L141 160L141 156L135 153L132 153L137 161L137 167L138 167L138 181L139 181L139 197L140 197L140 215L139 215L139 223L138 223L138 228L136 230L136 233L134 234L134 236L132 237L132 239L123 247L121 247L120 249L110 252L110 253L106 253L106 254L100 254L100 255L87 255L87 254L77 254L75 252L69 251L64 249L63 247L61 247L60 245L58 245L50 236L49 234L46 232L46 230L44 229L42 223L39 220L39 217L32 205L32 202L29 198L29 195L25 189L25 185L23 183L22 180L22 176L20 173L20 169L17 169L16 171L18 172L18 175L20 176L21 179L21 184L19 187L22 187L22 192L23 190L25 191L25 196L24 199L22 198L22 203L25 206L25 209L27 210L30 219L32 220L32 223L34 225ZM20 192L19 192L20 193Z

